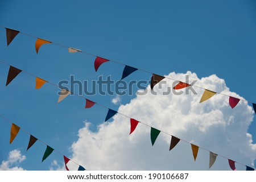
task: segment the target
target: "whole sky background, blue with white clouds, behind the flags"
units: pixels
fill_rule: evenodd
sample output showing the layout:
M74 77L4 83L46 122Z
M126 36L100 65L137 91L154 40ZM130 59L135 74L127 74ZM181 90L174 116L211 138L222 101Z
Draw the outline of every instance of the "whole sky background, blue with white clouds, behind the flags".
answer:
M196 85L254 103L255 22L255 1L0 2L3 27L176 80L189 75ZM95 72L94 56L69 53L56 44L43 45L36 54L35 41L19 34L7 47L5 28L0 28L0 60L54 84L70 75L88 82L101 75L121 78L123 65L105 63ZM168 151L170 136L163 133L152 147L150 127L138 126L129 136L129 119L115 115L104 123L108 110L98 105L84 109L85 100L77 96L57 104L60 89L45 84L36 90L35 77L24 72L6 87L8 70L0 64L0 114L86 169L208 170L209 152L200 150L193 162L189 144L180 142ZM125 81L150 77L137 71ZM199 104L201 89L181 96L154 90L157 96L137 96L134 87L132 96L84 97L253 167L256 121L251 104L240 101L231 109L228 97L220 95ZM43 143L26 152L29 135L23 131L9 144L11 125L1 118L0 124L0 169L63 169L57 152L41 163ZM220 156L211 169L230 170Z

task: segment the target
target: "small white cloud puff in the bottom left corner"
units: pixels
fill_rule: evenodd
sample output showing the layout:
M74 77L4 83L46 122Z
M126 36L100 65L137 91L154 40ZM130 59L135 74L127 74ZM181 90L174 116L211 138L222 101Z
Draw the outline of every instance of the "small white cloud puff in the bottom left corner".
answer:
M23 160L26 159L26 156L20 153L20 150L12 150L9 152L7 160L3 160L0 166L0 171L23 171L22 167L18 167Z

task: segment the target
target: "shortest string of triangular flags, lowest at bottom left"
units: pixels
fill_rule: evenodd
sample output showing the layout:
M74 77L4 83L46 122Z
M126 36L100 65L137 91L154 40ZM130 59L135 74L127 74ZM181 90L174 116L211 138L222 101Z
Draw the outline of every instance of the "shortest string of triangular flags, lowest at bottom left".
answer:
M86 169L82 166L80 166L79 164L77 164L76 162L74 162L72 159L67 158L67 156L61 154L61 152L56 151L55 149L53 149L52 147L50 147L48 144L46 144L45 142L43 142L42 140L36 138L34 135L32 135L31 133L28 133L28 131L20 128L18 125L16 125L15 123L11 122L10 119L4 117L2 114L0 114L0 117L5 119L5 121L8 121L11 123L11 131L10 131L10 144L13 143L14 139L16 138L16 136L18 135L19 131L22 130L25 133L27 133L28 135L30 135L30 139L28 141L28 146L27 146L27 151L28 149L30 149L30 147L32 147L36 141L39 141L41 143L43 143L44 145L46 145L46 151L44 151L43 154L43 158L42 158L42 162L44 160L46 160L48 158L49 155L52 154L53 151L57 152L58 154L63 156L64 159L64 164L65 164L65 168L67 169L67 171L69 171L68 168L68 163L72 162L73 164L77 165L77 171L85 171Z

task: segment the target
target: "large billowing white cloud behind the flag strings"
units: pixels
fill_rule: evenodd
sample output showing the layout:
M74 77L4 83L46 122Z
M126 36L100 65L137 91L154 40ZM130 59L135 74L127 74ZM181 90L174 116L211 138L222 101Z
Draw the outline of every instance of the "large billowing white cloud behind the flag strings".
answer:
M198 80L198 86L241 98L230 92L225 81L216 75L199 79L195 73L187 72L170 73L168 77L185 81L185 75L189 75L191 81ZM197 94L189 91L180 96L162 95L167 86L172 87L172 81L165 80L167 84L162 85L162 89L155 86L156 96L151 93L137 96L129 104L121 105L118 112L216 154L253 165L256 144L247 129L254 112L247 102L240 101L231 109L228 97L216 94L199 104L204 90L195 87ZM89 170L207 170L209 167L209 152L202 148L194 162L188 143L180 141L169 151L170 135L160 133L152 147L150 127L139 123L133 134L129 136L129 132L129 118L120 114L114 116L113 122L99 125L96 132L91 131L90 123L86 122L79 130L79 139L72 145L72 159ZM245 169L238 163L236 167ZM228 160L217 156L211 169L230 170Z

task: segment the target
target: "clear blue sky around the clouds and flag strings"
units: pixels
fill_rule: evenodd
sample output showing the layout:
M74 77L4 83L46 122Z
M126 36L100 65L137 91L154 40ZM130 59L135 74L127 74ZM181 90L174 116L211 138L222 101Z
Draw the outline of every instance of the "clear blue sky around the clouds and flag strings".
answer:
M191 71L201 78L215 74L230 91L254 103L255 14L254 1L0 2L3 27L158 75ZM81 81L97 80L101 75L111 75L115 81L121 78L122 65L105 63L96 73L95 57L68 53L56 44L42 46L37 55L35 41L19 34L7 47L5 29L0 28L0 60L55 84L70 75ZM62 154L72 155L70 148L84 121L92 123L92 131L104 122L108 110L97 105L84 109L85 101L76 96L56 104L59 89L45 84L35 90L35 78L26 73L5 87L9 67L0 64L0 69L0 114ZM150 76L137 71L125 80L149 80ZM133 96L122 96L121 103L129 103L136 91ZM111 109L119 107L112 103L115 96L88 98ZM255 122L248 130L253 140ZM22 131L10 145L10 123L3 119L0 131L0 162L16 148L26 155L19 165L27 170L48 170L53 159L62 162L62 156L53 152L41 163L46 148L42 143L26 152L29 136Z

